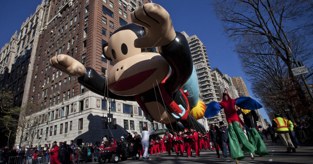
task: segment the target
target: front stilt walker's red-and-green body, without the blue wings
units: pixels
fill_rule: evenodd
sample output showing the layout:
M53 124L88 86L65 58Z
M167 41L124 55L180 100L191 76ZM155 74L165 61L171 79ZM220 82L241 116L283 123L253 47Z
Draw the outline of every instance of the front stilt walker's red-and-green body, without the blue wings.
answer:
M219 104L222 108L224 108L226 120L228 122L228 138L231 158L235 159L236 163L239 163L238 160L244 158L244 153L242 152L244 151L249 153L251 159L254 159L252 153L255 151L255 147L248 141L247 137L244 135L242 129L239 126L239 117L237 115L237 110L235 109L235 100L229 97L225 88L223 88L222 91L223 100ZM242 143L241 149L238 139Z

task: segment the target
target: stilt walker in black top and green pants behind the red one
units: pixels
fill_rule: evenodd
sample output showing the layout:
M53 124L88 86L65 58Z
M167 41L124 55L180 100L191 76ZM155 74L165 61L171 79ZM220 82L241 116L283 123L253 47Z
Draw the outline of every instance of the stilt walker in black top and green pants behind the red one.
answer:
M267 152L266 146L262 140L262 135L260 135L258 130L259 126L257 125L257 121L259 120L259 116L257 113L254 110L239 109L237 114L242 114L244 124L246 124L246 126L250 129L250 131L247 132L247 136L249 142L256 148L254 154L259 156L268 155L269 153Z

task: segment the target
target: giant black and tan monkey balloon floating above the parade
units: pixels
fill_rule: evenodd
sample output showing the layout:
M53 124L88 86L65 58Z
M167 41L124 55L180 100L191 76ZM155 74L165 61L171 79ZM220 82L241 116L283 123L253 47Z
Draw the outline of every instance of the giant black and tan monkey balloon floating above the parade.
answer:
M174 31L168 12L155 3L138 7L131 20L133 23L118 28L102 45L105 58L114 62L106 78L69 55L54 56L49 64L78 77L91 92L136 101L147 119L166 124L171 133L191 126L205 132L203 125L189 116L190 107L198 105L199 87L185 36ZM86 63L92 60L87 58ZM189 84L193 85L186 86Z

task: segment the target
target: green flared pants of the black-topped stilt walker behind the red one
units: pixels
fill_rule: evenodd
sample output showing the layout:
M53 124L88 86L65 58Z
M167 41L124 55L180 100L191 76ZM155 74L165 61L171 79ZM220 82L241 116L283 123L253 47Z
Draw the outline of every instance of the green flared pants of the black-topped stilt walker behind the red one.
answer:
M256 147L254 154L266 156L269 153L267 152L266 146L261 139L258 131L255 128L252 128L250 132L247 132L250 143Z

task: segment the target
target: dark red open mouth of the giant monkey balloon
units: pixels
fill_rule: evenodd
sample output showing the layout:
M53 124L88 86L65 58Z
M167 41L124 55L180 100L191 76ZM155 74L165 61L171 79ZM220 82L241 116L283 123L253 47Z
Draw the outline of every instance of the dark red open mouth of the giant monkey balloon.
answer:
M144 82L147 78L149 78L157 68L146 70L143 72L136 73L130 77L126 77L119 81L113 82L108 85L110 90L113 91L127 91L131 88L134 88Z

